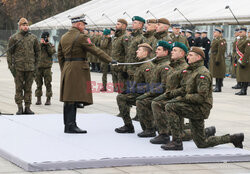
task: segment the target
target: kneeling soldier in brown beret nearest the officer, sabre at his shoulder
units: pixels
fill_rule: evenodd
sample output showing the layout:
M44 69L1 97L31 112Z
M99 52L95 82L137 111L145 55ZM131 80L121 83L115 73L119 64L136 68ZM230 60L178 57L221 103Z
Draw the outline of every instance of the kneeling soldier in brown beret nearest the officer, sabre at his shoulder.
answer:
M138 62L145 61L149 58L151 51L152 47L149 44L139 44L135 59ZM152 62L142 63L136 67L134 66L134 69L136 70L133 84L116 97L120 115L124 122L124 126L115 129L117 133L135 132L130 117L130 107L136 104L137 97L147 92L152 76L153 64Z

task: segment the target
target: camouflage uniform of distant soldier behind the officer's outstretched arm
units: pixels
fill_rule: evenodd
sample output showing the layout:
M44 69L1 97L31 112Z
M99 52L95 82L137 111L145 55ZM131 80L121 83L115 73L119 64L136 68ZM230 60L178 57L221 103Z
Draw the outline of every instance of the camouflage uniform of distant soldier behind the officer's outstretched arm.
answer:
M103 37L100 42L100 48L106 52L108 55L111 54L112 42L110 37ZM101 70L102 70L102 85L104 89L107 86L107 74L108 74L108 63L101 62Z

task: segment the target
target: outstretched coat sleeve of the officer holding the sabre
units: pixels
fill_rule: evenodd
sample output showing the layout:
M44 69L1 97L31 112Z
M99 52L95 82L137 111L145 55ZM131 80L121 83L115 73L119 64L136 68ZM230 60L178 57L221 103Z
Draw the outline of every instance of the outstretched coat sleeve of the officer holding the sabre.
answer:
M101 61L109 63L112 61L112 58L106 54L101 49L97 48L94 44L91 43L90 39L87 36L83 35L79 37L79 41L81 43L82 48L86 49L91 54L97 56Z

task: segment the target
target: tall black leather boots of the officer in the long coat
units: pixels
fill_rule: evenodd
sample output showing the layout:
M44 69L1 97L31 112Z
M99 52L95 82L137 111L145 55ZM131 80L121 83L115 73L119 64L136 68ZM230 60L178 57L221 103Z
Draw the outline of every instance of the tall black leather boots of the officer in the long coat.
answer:
M64 133L78 133L83 134L87 133L86 130L81 130L79 127L77 127L76 124L76 104L64 104L63 109L63 116L64 116Z

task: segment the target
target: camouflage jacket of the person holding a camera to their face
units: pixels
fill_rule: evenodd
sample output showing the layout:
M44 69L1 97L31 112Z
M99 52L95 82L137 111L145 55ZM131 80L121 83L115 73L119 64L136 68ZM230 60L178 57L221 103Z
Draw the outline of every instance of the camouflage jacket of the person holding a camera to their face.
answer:
M51 68L53 63L52 55L56 52L55 47L51 44L40 43L41 55L38 61L38 68Z

